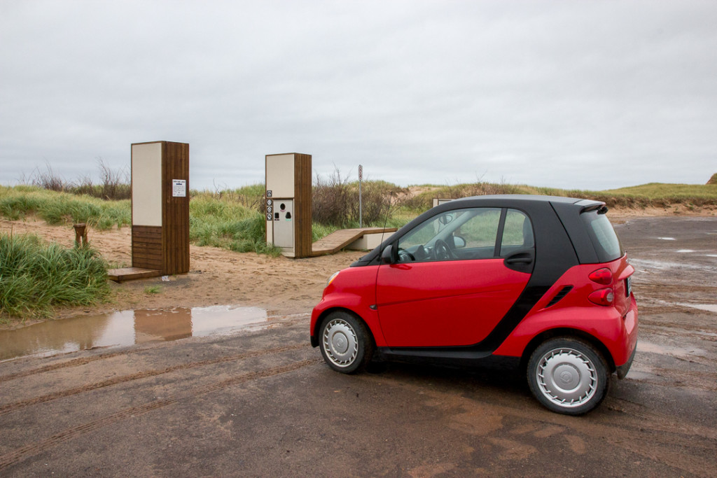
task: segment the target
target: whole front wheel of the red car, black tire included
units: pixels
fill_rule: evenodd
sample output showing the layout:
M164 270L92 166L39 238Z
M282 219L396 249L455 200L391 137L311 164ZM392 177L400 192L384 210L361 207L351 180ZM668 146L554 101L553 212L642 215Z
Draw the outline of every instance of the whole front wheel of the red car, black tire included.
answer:
M323 360L341 373L364 371L374 355L374 340L366 325L349 312L331 312L319 329Z

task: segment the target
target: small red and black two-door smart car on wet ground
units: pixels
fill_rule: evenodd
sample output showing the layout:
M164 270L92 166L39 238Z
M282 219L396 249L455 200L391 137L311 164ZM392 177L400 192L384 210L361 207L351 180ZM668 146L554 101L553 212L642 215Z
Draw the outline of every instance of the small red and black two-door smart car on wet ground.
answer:
M479 196L437 206L333 274L311 344L336 371L374 360L526 369L544 406L584 414L624 378L637 304L604 203Z

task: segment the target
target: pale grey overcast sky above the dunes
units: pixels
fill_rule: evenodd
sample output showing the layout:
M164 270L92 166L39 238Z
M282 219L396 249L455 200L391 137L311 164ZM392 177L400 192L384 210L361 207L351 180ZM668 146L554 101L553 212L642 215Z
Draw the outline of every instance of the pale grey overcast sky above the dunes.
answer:
M606 189L717 173L717 1L0 1L0 183L190 145L409 184Z

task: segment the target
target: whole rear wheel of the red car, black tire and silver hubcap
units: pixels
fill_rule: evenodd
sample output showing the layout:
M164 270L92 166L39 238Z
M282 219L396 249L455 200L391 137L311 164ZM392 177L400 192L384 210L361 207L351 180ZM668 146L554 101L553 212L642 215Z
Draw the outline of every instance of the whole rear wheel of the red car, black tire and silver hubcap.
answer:
M607 396L610 374L602 353L578 338L546 340L528 360L528 386L551 411L581 415Z

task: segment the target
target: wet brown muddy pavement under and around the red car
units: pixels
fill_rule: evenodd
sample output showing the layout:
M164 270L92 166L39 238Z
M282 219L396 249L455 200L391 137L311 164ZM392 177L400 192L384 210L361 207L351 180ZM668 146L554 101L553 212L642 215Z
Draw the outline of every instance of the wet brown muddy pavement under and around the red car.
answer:
M617 229L640 348L592 414L552 414L506 371L344 376L295 315L0 363L0 476L715 477L717 221Z

